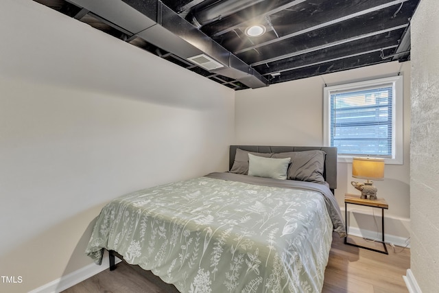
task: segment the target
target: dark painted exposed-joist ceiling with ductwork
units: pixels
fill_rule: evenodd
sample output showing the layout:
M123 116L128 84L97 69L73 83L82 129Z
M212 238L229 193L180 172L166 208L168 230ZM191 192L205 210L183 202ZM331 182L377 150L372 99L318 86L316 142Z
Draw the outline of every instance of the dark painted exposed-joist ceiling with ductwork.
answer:
M34 1L239 90L410 60L420 0Z

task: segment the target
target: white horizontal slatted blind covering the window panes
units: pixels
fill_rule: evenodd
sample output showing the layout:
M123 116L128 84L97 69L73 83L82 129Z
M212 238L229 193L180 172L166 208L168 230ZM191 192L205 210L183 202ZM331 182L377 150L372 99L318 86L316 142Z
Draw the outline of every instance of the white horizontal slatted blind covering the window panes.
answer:
M392 84L331 93L331 146L339 154L392 157Z

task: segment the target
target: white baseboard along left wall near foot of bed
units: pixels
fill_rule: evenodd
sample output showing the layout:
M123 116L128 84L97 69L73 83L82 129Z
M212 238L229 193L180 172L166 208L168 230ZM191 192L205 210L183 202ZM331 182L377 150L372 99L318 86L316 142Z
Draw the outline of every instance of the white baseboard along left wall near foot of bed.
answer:
M119 263L121 260L116 258L116 263ZM70 288L73 285L76 285L90 277L93 277L95 274L99 274L103 270L110 268L110 263L108 261L108 255L102 259L102 264L98 266L95 263L91 263L84 268L80 268L79 270L75 270L70 274L66 274L65 276L56 279L55 281L51 281L39 288L36 288L29 293L58 293L63 290Z

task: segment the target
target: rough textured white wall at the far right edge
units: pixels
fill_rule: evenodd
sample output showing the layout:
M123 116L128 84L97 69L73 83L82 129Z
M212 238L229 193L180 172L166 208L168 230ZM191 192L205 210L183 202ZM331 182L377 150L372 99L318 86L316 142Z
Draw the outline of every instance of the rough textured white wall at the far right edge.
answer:
M425 293L439 288L438 14L437 1L423 0L412 19L412 274L407 276L416 277Z

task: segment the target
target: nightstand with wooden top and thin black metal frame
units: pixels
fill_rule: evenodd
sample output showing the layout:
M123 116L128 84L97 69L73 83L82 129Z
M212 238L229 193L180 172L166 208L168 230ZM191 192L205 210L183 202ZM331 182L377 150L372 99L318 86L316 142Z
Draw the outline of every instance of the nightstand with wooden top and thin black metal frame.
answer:
M370 248L367 246L361 246L358 244L353 244L348 242L348 204L357 204L364 207L372 207L381 209L381 231L382 231L382 244L384 250L377 250L375 248ZM345 194L344 195L344 220L346 221L346 237L344 237L344 244L356 246L359 248L365 248L368 250L376 251L377 253L384 253L388 255L387 246L385 246L384 242L384 209L389 209L388 203L383 198L378 198L377 200L368 200L364 198L360 198L354 194Z

